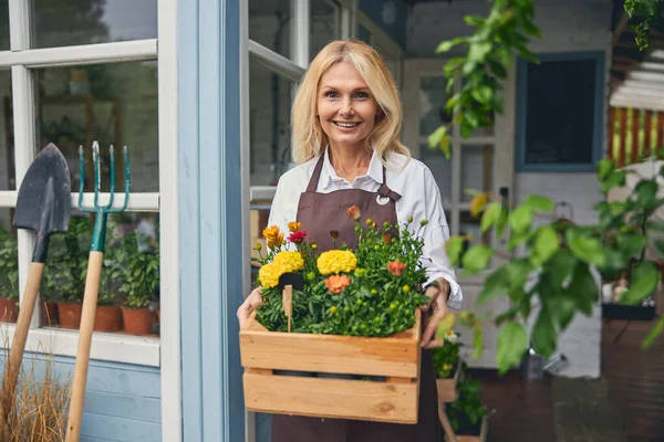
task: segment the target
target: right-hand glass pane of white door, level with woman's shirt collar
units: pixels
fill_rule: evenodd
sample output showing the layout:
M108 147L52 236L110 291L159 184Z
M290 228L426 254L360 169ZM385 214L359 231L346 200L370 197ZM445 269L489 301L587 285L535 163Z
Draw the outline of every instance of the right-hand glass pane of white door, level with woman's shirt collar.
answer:
M461 196L463 202L470 202L473 194L467 189L488 192L491 190L491 168L494 146L461 146Z

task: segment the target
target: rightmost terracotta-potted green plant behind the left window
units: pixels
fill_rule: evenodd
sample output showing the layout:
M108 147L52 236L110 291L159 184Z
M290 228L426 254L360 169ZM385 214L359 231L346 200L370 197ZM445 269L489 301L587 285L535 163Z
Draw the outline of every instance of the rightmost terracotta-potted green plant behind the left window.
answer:
M125 296L122 306L124 329L129 335L153 333L149 309L159 283L159 255L154 250L139 250L135 232L124 236L126 263L120 292Z

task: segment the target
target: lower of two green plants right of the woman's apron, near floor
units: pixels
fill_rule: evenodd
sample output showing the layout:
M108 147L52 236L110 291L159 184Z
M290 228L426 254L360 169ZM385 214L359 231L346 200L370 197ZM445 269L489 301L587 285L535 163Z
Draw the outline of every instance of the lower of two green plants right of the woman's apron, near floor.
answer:
M457 435L468 436L470 441L485 441L487 433L487 408L479 399L481 383L465 377L458 383L459 397L446 407L445 412Z

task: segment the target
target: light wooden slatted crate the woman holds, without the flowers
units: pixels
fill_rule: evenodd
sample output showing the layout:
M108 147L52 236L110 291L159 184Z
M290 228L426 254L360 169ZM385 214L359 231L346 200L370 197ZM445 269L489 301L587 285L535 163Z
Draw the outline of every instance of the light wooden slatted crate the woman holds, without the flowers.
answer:
M252 315L240 332L245 406L277 414L417 423L421 312L385 338L268 332ZM277 375L294 370L384 380Z

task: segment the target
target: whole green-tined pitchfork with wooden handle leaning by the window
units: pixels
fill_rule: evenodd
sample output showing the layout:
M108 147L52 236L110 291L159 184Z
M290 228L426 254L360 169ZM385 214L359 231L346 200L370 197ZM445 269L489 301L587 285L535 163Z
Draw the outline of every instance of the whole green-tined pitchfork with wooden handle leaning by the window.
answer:
M108 213L123 212L129 201L129 158L127 147L124 147L123 158L125 164L125 199L120 209L113 209L115 196L115 157L113 145L108 148L111 155L110 200L106 206L100 206L100 145L92 145L92 159L94 162L94 209L83 207L83 183L85 181L85 160L83 158L83 146L79 148L79 165L81 179L79 185L79 209L84 212L96 213L94 230L90 244L90 260L87 262L87 276L85 277L85 294L83 295L83 311L81 313L81 326L79 334L79 349L76 351L76 366L72 382L72 399L66 424L66 442L77 442L81 434L81 419L83 415L83 401L85 399L85 385L87 381L87 366L90 364L90 347L92 345L92 332L94 328L94 313L96 309L97 295L100 292L100 277L102 263L104 261L104 245L106 242L106 219Z

